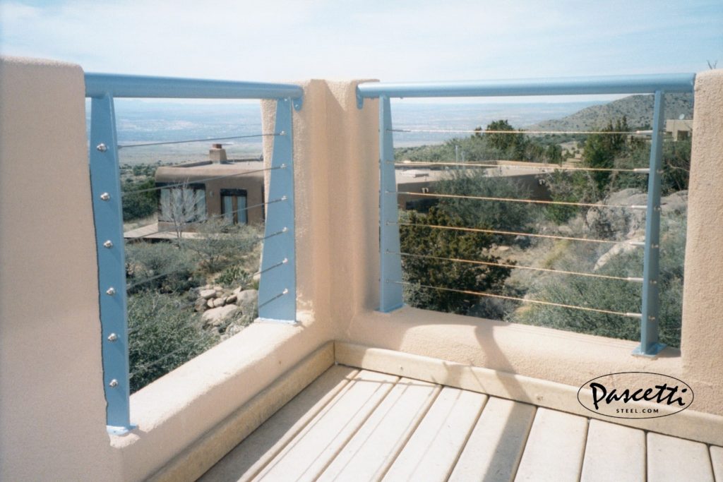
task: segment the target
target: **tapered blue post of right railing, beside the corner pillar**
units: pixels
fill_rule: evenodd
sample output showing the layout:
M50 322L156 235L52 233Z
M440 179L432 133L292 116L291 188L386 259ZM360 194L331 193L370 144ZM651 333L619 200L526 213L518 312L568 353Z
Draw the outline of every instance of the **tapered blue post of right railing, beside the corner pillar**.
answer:
M402 262L399 245L397 182L394 168L392 111L389 98L379 98L379 223L380 223L380 311L401 308Z

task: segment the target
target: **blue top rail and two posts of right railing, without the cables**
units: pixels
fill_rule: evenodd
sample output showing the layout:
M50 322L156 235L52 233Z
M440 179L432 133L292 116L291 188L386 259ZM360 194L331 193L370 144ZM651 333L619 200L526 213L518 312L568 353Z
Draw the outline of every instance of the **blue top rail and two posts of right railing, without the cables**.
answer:
M633 354L654 356L659 343L660 183L664 93L693 92L696 74L649 74L557 79L479 80L464 82L368 82L356 88L357 106L365 98L380 100L380 310L403 306L398 212L390 98L503 97L519 95L654 94L653 132L643 254L641 344Z

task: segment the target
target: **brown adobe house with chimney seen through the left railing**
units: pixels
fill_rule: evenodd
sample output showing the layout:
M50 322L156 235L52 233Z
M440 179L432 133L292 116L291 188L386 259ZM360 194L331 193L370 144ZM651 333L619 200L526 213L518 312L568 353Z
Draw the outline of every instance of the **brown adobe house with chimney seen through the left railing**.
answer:
M190 202L182 210L190 223L224 218L234 224L264 221L264 165L262 160L229 160L221 144L213 144L208 160L161 166L155 171L155 185L161 188L158 228L172 228L170 205L179 202L174 189L191 189ZM188 212L187 212L188 211Z

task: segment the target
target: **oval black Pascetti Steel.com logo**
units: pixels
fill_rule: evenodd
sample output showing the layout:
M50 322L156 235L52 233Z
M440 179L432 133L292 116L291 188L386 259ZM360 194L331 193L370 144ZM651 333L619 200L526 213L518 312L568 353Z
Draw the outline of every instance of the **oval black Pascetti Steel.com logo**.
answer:
M693 389L674 376L649 371L624 371L585 382L580 405L613 418L656 418L680 413L693 403Z

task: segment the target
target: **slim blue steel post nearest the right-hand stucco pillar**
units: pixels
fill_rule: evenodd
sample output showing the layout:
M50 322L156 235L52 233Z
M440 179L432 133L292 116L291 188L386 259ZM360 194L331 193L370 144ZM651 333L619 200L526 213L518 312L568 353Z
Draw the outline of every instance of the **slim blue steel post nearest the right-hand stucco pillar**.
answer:
M643 317L640 322L640 346L633 354L654 356L664 348L658 341L660 312L660 178L662 175L664 95L655 92L653 138L650 145L650 174L648 178L648 210L645 229L645 264L643 267Z

